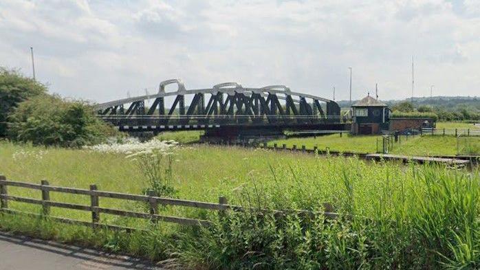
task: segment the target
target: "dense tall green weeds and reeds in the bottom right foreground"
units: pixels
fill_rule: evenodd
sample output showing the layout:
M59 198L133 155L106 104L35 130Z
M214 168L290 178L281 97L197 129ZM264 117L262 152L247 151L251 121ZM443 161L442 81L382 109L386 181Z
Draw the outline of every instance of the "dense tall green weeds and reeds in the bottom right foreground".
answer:
M348 208L340 218L230 213L200 236L187 238L189 249L181 256L206 269L479 267L478 173L428 165L413 166L410 172L411 178L400 183L400 192L388 181L378 186L381 196L369 216L360 214L356 188L345 174ZM262 207L274 207L274 201L262 201L266 194L250 192L250 196L259 198L250 200L250 207L260 202Z

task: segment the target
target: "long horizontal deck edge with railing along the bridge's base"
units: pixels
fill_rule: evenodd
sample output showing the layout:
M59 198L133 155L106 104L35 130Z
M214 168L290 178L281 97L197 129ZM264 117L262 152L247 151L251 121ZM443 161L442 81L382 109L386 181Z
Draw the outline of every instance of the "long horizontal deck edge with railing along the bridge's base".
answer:
M114 126L161 125L263 125L263 124L320 124L340 123L345 117L312 115L98 115Z

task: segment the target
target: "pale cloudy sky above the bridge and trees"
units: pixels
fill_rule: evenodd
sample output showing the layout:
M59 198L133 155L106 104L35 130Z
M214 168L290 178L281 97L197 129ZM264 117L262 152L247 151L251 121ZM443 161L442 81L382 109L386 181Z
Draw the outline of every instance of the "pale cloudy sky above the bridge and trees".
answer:
M221 82L336 100L480 96L480 0L0 0L0 66L106 102ZM146 89L146 90L145 90Z

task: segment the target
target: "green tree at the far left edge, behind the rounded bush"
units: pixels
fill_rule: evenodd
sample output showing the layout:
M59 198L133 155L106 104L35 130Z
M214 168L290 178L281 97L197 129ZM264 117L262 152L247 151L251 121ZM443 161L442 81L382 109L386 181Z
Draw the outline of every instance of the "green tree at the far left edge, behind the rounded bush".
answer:
M7 115L20 102L47 93L47 87L32 78L26 78L15 69L0 67L0 137L7 133Z

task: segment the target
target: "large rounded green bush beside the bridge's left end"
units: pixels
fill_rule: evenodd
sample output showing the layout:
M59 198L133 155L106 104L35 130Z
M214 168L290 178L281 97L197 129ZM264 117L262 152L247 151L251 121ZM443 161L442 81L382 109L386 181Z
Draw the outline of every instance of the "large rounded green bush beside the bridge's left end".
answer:
M67 101L58 95L39 95L21 102L8 117L8 137L14 142L80 147L115 134L86 102Z

